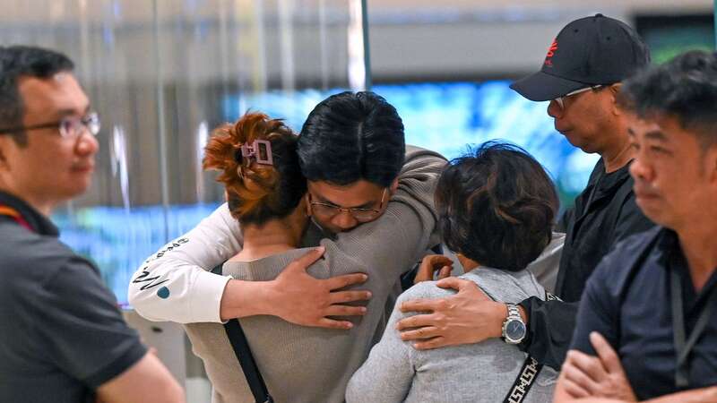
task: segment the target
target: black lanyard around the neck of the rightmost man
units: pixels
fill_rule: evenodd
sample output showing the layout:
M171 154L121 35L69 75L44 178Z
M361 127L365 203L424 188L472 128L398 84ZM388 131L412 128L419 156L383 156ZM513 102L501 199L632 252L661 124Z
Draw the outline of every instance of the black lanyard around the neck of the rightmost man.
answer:
M686 340L685 331L685 313L683 311L682 302L682 285L679 280L678 270L670 268L669 285L671 289L670 298L672 300L672 328L674 331L675 352L677 353L677 366L675 368L675 386L678 388L687 388L689 386L689 362L687 358L692 348L695 347L697 339L700 338L704 329L707 327L707 321L710 319L712 305L715 303L717 293L710 290L708 300L700 313L695 328Z

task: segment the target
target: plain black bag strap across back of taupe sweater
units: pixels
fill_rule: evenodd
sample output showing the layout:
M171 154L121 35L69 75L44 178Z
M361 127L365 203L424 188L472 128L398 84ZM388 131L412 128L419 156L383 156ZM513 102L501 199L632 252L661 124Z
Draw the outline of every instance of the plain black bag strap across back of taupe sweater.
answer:
M221 266L223 266L223 263L215 267L212 273L221 274ZM244 330L241 329L238 319L232 319L224 323L224 330L227 332L229 343L234 349L234 355L237 356L241 370L246 378L246 383L249 384L249 389L252 390L256 403L273 403L274 399L269 394L269 390L266 389L266 383L263 382L262 373L259 372L259 367L256 365L254 355L251 348L249 348L246 335Z

